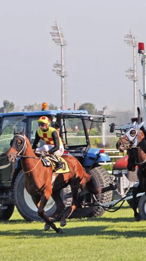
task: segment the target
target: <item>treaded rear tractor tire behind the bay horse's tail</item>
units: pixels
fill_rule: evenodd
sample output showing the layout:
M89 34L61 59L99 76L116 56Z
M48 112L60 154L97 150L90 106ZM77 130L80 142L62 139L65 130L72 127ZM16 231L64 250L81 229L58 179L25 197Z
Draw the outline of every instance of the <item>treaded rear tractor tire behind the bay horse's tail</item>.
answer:
M92 179L96 188L104 188L109 186L111 183L111 179L109 177L108 172L102 167L95 167L89 171L92 175ZM112 191L107 191L102 193L99 197L100 204L108 203L112 200ZM91 216L102 216L105 212L104 208L101 206L95 206L92 211L87 215L87 217Z

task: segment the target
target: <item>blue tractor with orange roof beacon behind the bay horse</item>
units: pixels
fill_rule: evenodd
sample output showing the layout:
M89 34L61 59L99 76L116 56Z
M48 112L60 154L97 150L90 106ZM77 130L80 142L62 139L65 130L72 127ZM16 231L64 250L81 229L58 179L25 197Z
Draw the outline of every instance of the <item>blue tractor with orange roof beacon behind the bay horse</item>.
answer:
M30 194L25 189L24 174L21 169L20 159L15 164L7 161L7 152L10 141L14 135L14 129L21 132L25 128L26 136L33 144L35 133L38 128L37 120L40 116L50 118L51 125L59 124L60 135L65 142L65 152L76 157L91 173L92 180L97 187L107 187L111 183L108 172L101 163L110 162L110 158L103 149L90 147L90 135L92 127L105 122L103 115L89 115L87 111L38 111L0 114L0 220L9 220L16 205L24 219L38 221L37 208ZM42 140L39 146L42 145ZM68 185L61 191L65 206L71 204L71 191ZM100 202L107 203L112 199L112 191L102 193ZM80 189L78 194L78 208L72 217L101 216L104 209L95 204L96 198L85 189ZM56 210L52 198L45 207L46 214L52 215Z

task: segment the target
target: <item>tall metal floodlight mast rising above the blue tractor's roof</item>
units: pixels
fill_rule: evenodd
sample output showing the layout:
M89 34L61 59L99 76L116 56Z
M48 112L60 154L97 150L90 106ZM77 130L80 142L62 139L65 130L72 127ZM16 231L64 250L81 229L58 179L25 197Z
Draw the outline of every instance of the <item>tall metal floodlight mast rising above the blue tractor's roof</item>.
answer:
M58 27L57 21L54 22L54 26L52 26L53 32L50 32L52 35L53 41L57 45L61 47L61 63L58 61L54 63L53 71L56 72L58 76L61 77L61 110L65 109L65 77L67 73L64 71L64 46L66 46L66 42L63 38L63 33Z

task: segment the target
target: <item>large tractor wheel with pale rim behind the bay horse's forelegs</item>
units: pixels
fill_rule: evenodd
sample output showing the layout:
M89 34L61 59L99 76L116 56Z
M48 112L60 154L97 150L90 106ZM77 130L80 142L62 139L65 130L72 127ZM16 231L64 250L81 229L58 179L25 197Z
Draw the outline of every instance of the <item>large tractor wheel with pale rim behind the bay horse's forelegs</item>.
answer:
M25 220L42 221L41 217L38 216L37 207L35 206L31 195L25 188L25 175L22 170L18 173L18 176L15 180L13 193L17 210ZM63 191L63 200L65 201L66 198L68 198L67 188ZM56 204L52 197L50 197L44 208L44 211L47 216L51 216L55 210Z

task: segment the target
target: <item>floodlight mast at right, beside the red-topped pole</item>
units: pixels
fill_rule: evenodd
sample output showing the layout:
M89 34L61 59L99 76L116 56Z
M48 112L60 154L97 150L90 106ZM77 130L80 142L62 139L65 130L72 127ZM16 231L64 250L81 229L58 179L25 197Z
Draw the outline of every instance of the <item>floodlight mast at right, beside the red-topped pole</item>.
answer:
M126 73L126 77L128 77L130 80L133 81L134 83L134 117L136 117L137 115L137 76L136 76L136 47L137 45L137 41L135 41L135 36L132 35L131 30L129 34L126 34L124 36L125 40L127 42L127 44L129 46L133 47L133 69L129 68Z

